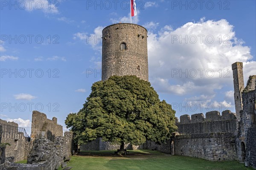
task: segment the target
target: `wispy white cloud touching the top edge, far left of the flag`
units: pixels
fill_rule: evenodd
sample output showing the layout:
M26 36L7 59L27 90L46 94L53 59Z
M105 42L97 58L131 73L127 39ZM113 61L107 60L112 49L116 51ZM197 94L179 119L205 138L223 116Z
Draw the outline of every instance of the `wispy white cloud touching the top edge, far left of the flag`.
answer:
M60 1L50 0L20 0L26 5L26 11L42 11L45 14L58 14L59 13L59 3ZM23 3L21 3L23 5Z

